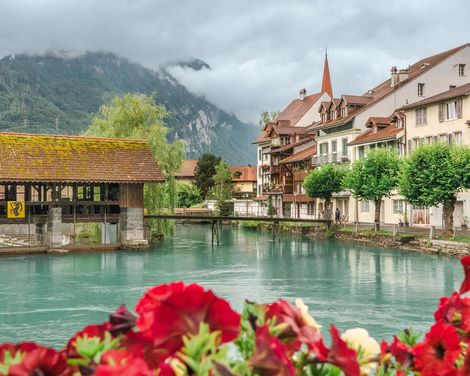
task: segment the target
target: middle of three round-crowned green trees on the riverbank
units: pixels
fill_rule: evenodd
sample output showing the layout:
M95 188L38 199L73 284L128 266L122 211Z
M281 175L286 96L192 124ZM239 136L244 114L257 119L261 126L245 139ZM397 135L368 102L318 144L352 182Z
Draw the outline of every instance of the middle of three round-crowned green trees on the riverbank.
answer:
M380 230L382 199L389 197L398 186L401 159L395 150L376 148L366 157L356 160L344 178L344 187L354 197L373 201L374 228Z

